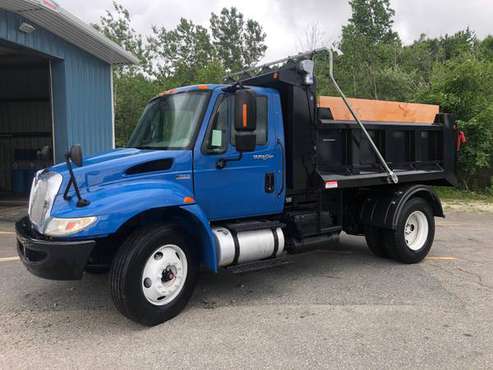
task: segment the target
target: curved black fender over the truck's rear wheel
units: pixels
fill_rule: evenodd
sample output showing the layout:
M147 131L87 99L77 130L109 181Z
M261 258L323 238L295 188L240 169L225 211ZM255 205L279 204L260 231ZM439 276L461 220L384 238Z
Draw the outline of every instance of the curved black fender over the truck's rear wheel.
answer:
M411 185L393 192L371 192L361 207L360 222L363 225L395 230L406 202L413 197L426 199L435 217L445 217L442 203L431 186Z

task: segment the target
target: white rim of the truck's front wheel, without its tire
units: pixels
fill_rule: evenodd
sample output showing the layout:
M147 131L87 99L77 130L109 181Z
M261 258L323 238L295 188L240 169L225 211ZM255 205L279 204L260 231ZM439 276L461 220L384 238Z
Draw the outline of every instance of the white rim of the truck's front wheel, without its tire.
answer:
M183 289L188 273L185 252L174 244L156 249L147 259L142 272L142 291L149 303L163 306Z

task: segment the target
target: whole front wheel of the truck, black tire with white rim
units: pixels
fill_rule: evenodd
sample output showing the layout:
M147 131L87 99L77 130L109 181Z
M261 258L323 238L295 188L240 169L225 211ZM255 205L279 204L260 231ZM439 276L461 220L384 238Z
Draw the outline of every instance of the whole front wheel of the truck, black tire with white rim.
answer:
M199 270L197 251L176 227L134 232L111 268L111 295L129 319L154 326L178 315L190 299Z

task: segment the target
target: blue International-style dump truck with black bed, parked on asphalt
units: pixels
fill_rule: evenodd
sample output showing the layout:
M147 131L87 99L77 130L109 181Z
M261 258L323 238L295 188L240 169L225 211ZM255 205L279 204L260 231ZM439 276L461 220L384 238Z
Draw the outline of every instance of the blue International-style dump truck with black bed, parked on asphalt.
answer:
M444 217L432 185L456 183L452 117L365 122L333 79L354 115L338 121L317 104L316 53L166 91L126 148L83 158L74 145L36 174L16 224L26 268L109 271L117 309L152 326L185 307L201 267L262 264L343 231L377 256L423 260Z

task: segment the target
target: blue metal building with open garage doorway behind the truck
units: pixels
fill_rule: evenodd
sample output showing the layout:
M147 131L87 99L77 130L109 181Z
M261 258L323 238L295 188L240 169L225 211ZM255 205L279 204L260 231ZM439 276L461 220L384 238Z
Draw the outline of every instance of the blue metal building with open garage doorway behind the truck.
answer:
M0 1L0 196L82 144L114 146L112 65L138 60L52 0Z

